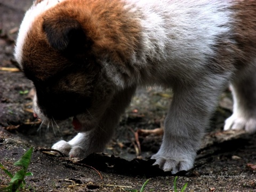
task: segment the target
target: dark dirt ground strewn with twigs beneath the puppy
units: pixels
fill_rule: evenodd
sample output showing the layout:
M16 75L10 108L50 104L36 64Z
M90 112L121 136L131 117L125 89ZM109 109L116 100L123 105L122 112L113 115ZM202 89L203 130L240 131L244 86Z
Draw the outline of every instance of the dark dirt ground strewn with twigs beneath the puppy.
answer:
M15 173L18 168L13 163L30 146L35 147L28 170L34 175L26 177L26 187L21 191L135 191L147 179L150 180L145 191L174 191L173 175L147 161L161 145L162 135L140 133L139 139L135 139L140 129L162 127L172 98L168 90L157 87L138 90L106 147L105 153L114 156L95 154L79 161L43 150L76 133L70 119L59 124L60 129L52 126L38 129L40 124L31 113L33 84L15 71L14 39L31 2L0 0L0 163ZM226 91L206 131L195 168L179 173L178 189L188 183L186 191L256 191L256 134L222 131L231 106L230 93ZM139 150L137 141L142 153L134 159ZM10 178L0 170L0 191L9 182Z

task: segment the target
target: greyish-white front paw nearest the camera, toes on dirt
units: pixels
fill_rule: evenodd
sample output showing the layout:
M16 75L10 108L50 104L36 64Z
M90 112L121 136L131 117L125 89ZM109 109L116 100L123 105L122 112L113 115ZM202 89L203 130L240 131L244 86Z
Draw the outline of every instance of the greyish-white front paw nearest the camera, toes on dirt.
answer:
M172 174L175 174L193 168L195 156L195 153L168 153L160 149L151 159L156 159L154 165L159 165L164 171L172 171Z

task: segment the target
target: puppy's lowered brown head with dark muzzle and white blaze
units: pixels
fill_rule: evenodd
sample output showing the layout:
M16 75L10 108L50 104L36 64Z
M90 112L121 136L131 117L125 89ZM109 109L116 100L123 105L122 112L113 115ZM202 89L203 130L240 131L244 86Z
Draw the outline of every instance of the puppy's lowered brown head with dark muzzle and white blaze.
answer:
M110 12L123 11L111 2L37 0L26 13L14 55L34 82L39 118L75 117L77 130L92 129L125 84L130 73L125 63L133 57L139 36L136 27L130 32L111 27L108 17L116 13L100 15L102 4Z

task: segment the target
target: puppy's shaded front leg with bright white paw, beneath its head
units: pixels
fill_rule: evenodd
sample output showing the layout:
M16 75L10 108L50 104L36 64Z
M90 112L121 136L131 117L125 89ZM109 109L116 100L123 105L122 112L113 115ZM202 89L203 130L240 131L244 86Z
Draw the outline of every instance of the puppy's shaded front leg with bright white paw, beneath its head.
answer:
M78 133L75 138L68 142L61 140L55 143L52 148L60 150L67 156L79 158L84 158L91 153L102 152L111 139L121 114L130 104L135 89L136 87L133 86L118 91L94 129Z

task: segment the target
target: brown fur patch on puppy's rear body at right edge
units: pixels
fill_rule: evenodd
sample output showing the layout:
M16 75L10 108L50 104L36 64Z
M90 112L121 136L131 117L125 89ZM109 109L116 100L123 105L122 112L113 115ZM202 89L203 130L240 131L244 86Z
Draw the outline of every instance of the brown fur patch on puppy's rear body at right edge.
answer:
M234 2L229 9L230 34L220 35L213 47L217 53L211 59L214 65L209 65L213 73L241 69L256 57L256 1Z

